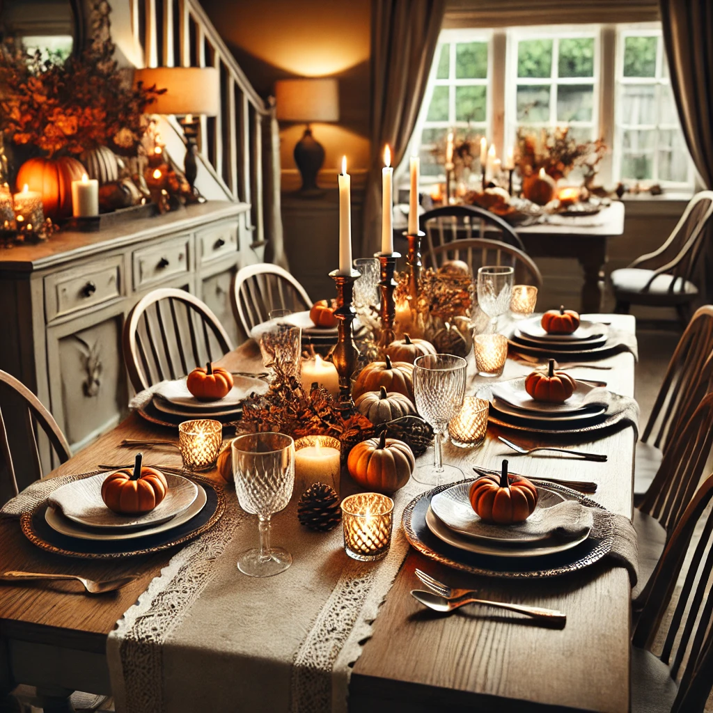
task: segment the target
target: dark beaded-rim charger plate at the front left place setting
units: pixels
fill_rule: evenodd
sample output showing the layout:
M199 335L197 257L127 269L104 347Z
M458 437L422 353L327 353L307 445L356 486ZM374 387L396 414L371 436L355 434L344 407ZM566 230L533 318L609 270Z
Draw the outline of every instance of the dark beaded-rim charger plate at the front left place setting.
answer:
M48 503L46 502L28 513L23 513L20 519L22 533L33 545L37 545L42 550L56 555L66 555L66 557L112 560L160 552L193 540L212 528L225 513L225 491L222 486L198 476L193 476L191 480L205 489L207 496L205 506L198 515L183 525L156 535L135 540L81 540L68 537L56 532L47 524L45 511Z

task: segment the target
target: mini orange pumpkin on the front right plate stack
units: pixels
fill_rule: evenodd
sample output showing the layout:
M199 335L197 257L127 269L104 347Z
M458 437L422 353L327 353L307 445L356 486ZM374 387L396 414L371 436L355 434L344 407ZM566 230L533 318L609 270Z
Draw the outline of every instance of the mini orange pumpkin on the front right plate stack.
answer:
M537 506L537 488L523 476L508 474L503 461L500 476L481 476L471 486L471 506L486 523L513 525L527 520Z

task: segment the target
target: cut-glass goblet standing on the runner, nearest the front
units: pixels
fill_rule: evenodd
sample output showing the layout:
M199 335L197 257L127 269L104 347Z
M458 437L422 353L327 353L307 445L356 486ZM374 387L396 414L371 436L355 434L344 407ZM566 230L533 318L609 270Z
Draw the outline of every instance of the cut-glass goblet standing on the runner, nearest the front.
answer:
M260 529L260 547L243 552L237 568L250 577L272 577L292 564L287 550L270 547L270 518L292 497L294 441L285 434L248 434L235 438L231 447L237 501L257 515Z

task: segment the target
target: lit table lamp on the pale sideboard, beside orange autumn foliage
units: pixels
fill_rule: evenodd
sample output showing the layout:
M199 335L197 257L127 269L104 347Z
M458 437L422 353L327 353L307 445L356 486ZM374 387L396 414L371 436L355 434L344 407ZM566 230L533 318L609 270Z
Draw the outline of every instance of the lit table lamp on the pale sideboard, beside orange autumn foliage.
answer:
M153 67L137 69L134 83L165 89L149 105L154 114L175 114L185 135L185 180L191 190L198 175L195 153L198 150L199 120L196 114L220 113L220 74L215 67Z

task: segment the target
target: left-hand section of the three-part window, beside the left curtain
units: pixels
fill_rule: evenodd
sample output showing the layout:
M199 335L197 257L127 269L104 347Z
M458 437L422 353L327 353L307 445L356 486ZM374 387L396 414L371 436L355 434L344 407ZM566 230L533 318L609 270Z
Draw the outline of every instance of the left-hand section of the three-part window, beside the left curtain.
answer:
M421 130L421 176L426 183L443 177L443 161L432 151L444 150L446 135L488 134L488 36L475 31L443 31L431 69L431 96Z

